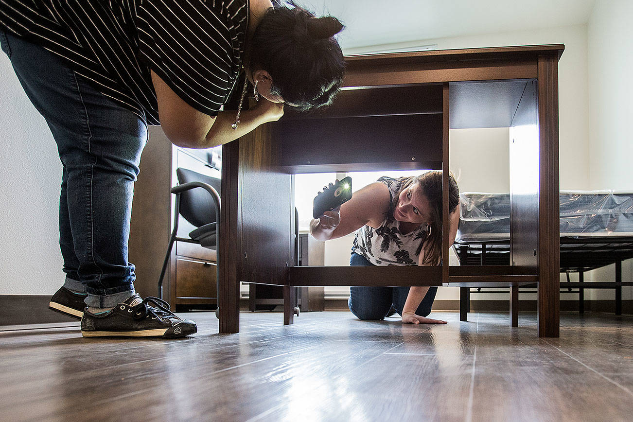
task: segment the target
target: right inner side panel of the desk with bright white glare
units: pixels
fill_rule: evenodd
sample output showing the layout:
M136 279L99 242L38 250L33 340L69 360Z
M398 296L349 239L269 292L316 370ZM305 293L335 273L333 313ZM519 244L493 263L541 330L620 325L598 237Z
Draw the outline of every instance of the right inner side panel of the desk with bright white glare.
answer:
M525 82L510 126L510 260L535 269L539 258L538 111L537 82Z

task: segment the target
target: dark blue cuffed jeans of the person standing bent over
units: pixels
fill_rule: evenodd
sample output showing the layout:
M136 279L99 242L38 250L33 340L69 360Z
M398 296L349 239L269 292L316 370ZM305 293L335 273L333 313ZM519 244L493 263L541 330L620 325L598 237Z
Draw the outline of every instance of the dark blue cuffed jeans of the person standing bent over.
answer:
M0 43L28 98L46 119L63 165L60 246L65 285L84 287L88 306L115 306L134 294L127 243L147 126L58 56L4 32Z

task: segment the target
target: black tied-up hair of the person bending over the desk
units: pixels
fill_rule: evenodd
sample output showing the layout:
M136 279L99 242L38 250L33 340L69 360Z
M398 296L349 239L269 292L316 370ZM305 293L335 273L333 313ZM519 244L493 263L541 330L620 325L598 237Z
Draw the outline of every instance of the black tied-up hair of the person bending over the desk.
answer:
M251 70L273 79L271 94L305 111L327 106L339 92L345 61L334 35L343 24L333 16L316 18L294 2L275 3L251 39Z

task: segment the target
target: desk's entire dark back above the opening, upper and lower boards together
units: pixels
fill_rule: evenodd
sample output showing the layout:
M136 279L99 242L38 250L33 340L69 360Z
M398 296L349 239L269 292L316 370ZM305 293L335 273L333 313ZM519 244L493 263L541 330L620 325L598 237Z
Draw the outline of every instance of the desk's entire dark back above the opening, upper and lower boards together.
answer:
M442 168L442 85L342 90L273 125L289 173Z

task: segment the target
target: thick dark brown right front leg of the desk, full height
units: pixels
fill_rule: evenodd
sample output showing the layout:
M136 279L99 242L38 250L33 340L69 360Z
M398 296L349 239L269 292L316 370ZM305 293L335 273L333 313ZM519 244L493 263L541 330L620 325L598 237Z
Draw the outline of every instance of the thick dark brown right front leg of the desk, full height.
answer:
M558 57L539 56L539 337L560 336Z

